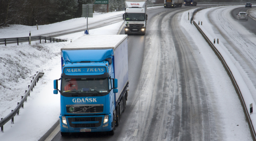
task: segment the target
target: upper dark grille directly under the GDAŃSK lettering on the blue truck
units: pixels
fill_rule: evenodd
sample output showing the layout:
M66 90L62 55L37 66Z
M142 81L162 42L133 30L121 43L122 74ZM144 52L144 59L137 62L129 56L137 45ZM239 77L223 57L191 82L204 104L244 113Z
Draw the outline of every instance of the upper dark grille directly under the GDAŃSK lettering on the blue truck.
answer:
M103 104L96 105L66 105L67 113L100 113L103 112Z

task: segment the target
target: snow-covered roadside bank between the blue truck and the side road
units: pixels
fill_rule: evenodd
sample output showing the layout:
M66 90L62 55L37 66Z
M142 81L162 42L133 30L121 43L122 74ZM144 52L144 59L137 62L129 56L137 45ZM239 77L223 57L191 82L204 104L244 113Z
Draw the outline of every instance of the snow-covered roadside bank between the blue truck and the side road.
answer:
M122 23L89 30L89 33L117 34ZM71 39L74 41L81 36L88 35L77 32L60 37L68 42L0 46L0 117L5 117L16 108L32 76L37 71L44 72L30 93L28 102L24 103L24 109L20 109L20 114L14 117L15 124L9 121L4 125L4 133L0 133L1 141L38 140L59 120L60 95L53 95L53 79L61 75L60 49Z

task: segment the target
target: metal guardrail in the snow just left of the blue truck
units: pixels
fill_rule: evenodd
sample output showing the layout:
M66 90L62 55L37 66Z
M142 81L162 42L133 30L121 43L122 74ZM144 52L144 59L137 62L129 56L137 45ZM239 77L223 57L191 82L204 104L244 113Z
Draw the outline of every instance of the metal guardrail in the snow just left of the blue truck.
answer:
M33 80L31 80L31 84L28 86L28 90L26 90L25 96L21 96L22 99L20 102L18 102L17 107L14 110L11 110L11 113L9 113L6 117L4 117L3 119L1 118L1 132L4 132L4 125L9 120L11 120L11 123L14 124L14 116L16 114L19 115L20 108L24 108L24 102L27 101L27 97L30 96L30 91L33 91L34 86L37 85L39 78L42 78L43 74L43 72L37 72L37 74L34 75L35 77L33 77Z

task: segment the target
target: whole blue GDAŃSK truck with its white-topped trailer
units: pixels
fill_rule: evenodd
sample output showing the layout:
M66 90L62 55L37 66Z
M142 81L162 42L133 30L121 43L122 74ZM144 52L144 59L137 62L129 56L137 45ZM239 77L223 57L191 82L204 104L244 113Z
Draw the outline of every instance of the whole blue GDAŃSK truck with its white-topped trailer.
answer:
M127 35L82 36L61 49L60 131L114 134L127 100ZM60 86L58 86L60 81Z

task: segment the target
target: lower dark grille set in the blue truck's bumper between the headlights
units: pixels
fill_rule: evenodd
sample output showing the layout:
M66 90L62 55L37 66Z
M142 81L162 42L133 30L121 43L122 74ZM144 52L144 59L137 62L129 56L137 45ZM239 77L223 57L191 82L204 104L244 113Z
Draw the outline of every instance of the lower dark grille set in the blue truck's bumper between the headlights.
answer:
M101 125L102 117L69 117L69 126L73 128L91 128L99 127ZM86 121L99 121L99 123L87 123L87 124L72 124L72 122L86 122Z

